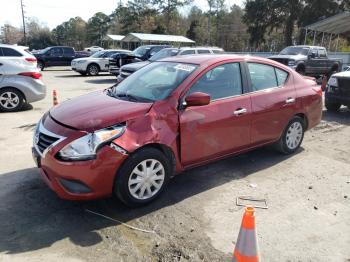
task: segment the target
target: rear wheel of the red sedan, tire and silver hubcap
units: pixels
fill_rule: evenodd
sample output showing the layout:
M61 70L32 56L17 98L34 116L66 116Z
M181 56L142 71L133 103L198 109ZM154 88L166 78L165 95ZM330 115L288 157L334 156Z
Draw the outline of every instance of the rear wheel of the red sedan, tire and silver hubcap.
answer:
M276 143L277 150L286 155L293 154L303 142L304 132L305 124L303 119L298 116L293 117Z

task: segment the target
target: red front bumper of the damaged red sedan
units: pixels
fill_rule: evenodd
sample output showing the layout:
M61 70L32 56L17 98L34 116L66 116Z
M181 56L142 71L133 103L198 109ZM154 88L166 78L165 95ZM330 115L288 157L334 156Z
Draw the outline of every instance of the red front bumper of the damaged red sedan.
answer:
M44 182L60 198L67 200L91 200L111 196L115 175L127 155L106 145L97 152L93 160L59 160L56 158L59 150L81 136L81 132L62 127L50 117L46 117L42 125L46 130L65 137L43 153L34 142L32 154Z

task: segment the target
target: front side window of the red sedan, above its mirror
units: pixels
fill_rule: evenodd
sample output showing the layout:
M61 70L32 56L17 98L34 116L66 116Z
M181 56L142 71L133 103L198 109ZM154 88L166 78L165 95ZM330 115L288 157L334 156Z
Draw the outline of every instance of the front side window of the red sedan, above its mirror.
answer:
M219 65L205 73L189 90L188 94L202 92L211 100L242 94L242 80L239 63Z

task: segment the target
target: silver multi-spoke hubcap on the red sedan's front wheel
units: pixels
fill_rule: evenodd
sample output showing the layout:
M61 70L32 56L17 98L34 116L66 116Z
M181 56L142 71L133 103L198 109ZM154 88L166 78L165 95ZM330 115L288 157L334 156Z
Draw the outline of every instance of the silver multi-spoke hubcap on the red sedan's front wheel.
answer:
M165 170L161 162L147 159L139 163L129 177L129 192L140 200L154 196L164 183Z

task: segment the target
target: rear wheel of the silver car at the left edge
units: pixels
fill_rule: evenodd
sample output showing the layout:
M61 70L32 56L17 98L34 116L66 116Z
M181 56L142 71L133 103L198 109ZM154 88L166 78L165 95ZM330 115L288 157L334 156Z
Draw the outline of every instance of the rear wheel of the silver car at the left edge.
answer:
M9 100L10 99L10 100ZM16 112L25 104L23 94L15 88L0 89L0 110L3 112Z

